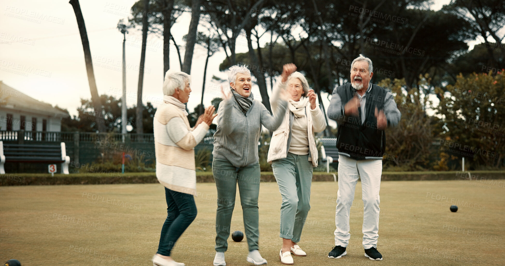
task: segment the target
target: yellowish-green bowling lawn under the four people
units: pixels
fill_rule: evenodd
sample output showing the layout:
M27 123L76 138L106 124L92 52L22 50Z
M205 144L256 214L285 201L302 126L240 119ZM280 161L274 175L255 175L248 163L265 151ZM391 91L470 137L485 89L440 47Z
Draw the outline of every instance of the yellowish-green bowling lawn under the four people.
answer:
M488 180L489 181L489 180ZM307 257L295 265L502 265L505 263L504 180L383 181L378 250L383 261L364 256L363 201L358 183L351 208L347 255L327 258L334 244L334 182L314 182L312 209L299 245ZM198 216L173 249L188 266L212 265L216 187L198 183ZM0 187L0 263L29 265L152 265L166 217L160 184ZM89 198L88 198L89 197ZM279 261L281 196L275 182L260 189L260 252ZM459 210L449 211L456 203ZM243 230L239 200L232 231ZM245 239L229 241L228 266L245 261Z

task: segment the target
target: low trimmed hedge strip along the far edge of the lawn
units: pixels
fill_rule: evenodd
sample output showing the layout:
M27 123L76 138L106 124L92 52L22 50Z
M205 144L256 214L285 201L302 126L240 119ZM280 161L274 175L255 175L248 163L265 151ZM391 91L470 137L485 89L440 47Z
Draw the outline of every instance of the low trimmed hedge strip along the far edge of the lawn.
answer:
M333 173L338 178L338 173ZM505 171L472 171L475 179L505 179ZM447 172L383 172L383 181L453 180L468 178L459 171ZM332 173L314 172L313 181L333 181ZM272 172L261 173L262 182L275 182ZM196 182L214 182L212 172L196 172ZM154 172L111 174L5 174L0 175L0 186L23 185L87 185L87 184L145 184L158 183Z

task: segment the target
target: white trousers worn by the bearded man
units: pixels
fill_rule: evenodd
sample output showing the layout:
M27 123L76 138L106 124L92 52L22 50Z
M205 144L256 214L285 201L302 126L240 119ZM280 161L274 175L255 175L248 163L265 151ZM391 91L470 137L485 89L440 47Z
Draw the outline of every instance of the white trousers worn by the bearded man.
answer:
M335 246L349 244L349 213L354 200L358 177L361 178L363 199L363 247L377 247L379 238L379 190L382 174L381 159L355 160L338 156L338 192L335 209Z

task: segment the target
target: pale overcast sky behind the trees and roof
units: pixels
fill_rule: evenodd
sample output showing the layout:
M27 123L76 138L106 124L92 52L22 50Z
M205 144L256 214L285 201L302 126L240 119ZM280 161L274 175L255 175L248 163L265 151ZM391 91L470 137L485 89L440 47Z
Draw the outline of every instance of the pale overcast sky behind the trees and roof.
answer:
M438 10L449 0L437 1L432 9ZM80 1L82 14L93 58L93 69L99 94L122 95L122 41L117 30L118 21L129 15L134 0L86 0ZM38 100L59 105L76 115L80 98L90 99L84 53L77 21L68 0L0 0L0 80ZM172 34L179 45L187 34L189 14L181 16L172 27ZM200 28L199 30L204 30ZM241 39L243 38L243 40ZM268 38L268 37L265 37ZM239 37L236 52L247 51L244 37ZM136 105L138 67L142 44L140 29L131 29L126 42L126 90L127 105ZM170 67L179 69L175 47L170 48ZM184 57L184 50L182 57ZM207 51L196 45L191 68L192 92L188 109L193 111L201 97L204 65ZM223 51L209 61L204 104L220 96L218 86L211 83L219 72L219 64L225 59ZM286 62L289 63L289 62ZM143 83L143 102L155 106L163 96L163 39L148 35ZM260 96L258 86L252 92ZM323 101L327 106L328 101Z

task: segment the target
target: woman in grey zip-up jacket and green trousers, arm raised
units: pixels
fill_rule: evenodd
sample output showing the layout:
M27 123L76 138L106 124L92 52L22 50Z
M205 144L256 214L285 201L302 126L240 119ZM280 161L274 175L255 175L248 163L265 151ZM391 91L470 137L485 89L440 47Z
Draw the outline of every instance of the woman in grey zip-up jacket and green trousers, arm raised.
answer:
M240 193L245 236L249 254L246 260L255 265L266 264L258 251L260 193L260 164L258 140L261 126L276 130L284 118L287 102L278 100L279 112L274 117L260 100L251 93L251 75L245 66L229 69L231 95L221 101L218 109L217 130L214 134L212 172L218 190L216 211L216 256L214 265L226 265L224 252L228 248L230 224L235 206L236 187ZM274 95L276 96L276 95ZM279 98L276 96L276 98Z

